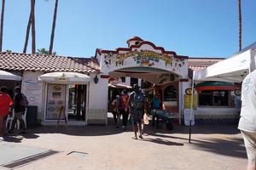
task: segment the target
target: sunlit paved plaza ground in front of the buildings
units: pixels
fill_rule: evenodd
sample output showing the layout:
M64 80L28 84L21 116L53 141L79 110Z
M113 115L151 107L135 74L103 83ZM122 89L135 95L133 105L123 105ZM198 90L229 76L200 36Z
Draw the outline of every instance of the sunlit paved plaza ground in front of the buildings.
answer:
M188 132L183 126L169 131L148 125L144 139L135 140L131 125L127 132L111 124L34 127L26 135L0 137L0 169L241 170L247 166L236 125L195 126L191 144ZM38 156L47 150L59 152ZM21 163L16 165L17 160Z

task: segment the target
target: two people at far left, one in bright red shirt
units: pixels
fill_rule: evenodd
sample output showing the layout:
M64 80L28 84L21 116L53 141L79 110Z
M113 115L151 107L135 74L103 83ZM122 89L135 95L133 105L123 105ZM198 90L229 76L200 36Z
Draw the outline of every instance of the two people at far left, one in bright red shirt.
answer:
M22 115L26 111L26 104L24 104L24 94L21 93L21 88L15 88L15 99L11 99L8 94L8 88L0 88L0 136L5 135L6 133L14 133L15 124L17 120L20 121L21 133L26 133L26 124L22 119ZM6 118L9 114L12 114L14 110L14 119L11 123L11 127L6 131Z

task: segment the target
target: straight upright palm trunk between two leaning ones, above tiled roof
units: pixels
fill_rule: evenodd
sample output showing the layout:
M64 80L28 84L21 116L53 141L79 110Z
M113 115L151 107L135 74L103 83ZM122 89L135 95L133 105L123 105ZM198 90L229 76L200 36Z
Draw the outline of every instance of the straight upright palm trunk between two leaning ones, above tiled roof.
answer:
M35 0L31 0L32 54L36 53Z

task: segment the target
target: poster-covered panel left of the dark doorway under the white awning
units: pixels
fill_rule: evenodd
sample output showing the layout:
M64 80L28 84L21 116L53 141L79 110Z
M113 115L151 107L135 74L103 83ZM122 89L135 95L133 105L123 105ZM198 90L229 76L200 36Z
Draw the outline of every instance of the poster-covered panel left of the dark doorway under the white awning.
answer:
M58 120L61 107L65 108L66 103L66 88L65 84L49 84L46 102L46 119ZM65 119L65 112L62 110L61 120Z

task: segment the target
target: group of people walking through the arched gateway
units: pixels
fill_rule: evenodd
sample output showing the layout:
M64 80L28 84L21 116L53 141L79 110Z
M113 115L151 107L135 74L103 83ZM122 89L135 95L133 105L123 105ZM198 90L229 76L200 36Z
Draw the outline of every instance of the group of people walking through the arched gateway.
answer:
M133 139L137 139L137 137L143 139L144 114L148 114L150 109L160 109L161 104L159 95L155 95L152 102L150 102L141 88L135 84L133 91L129 95L126 90L123 90L121 95L116 95L112 105L115 126L119 127L120 116L122 116L123 128L125 129L130 115L134 132Z

